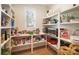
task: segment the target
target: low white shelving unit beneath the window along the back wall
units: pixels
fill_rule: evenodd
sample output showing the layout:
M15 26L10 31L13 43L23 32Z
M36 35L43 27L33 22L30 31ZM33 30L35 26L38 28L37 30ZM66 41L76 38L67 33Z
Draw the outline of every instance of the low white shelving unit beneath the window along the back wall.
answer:
M31 53L33 53L33 49L35 47L39 47L39 46L44 46L46 45L46 41L45 39L41 39L40 41L36 41L36 39L34 39L34 36L40 36L40 35L45 35L44 33L40 33L40 34L33 34L33 35L30 35L30 34L20 34L20 35L14 35L14 36L11 36L11 38L14 38L12 40L25 40L24 42L26 43L20 43L20 44L17 44L15 46L12 47L12 53L14 52L17 52L17 51L21 51L21 50L25 50L25 49L30 49L31 50ZM30 37L30 38L28 38ZM17 39L17 38L20 38L20 39ZM24 39L25 38L25 39ZM27 41L26 41L27 40Z

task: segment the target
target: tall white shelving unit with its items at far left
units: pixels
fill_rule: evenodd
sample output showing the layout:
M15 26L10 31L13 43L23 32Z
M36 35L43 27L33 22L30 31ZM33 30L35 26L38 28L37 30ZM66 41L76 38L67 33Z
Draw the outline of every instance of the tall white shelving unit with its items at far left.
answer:
M9 4L1 4L0 5L0 14L1 14L1 25L0 25L0 33L1 33L1 54L7 55L11 54L11 28L14 26L12 20L14 21L13 16L11 15L14 12L13 8Z

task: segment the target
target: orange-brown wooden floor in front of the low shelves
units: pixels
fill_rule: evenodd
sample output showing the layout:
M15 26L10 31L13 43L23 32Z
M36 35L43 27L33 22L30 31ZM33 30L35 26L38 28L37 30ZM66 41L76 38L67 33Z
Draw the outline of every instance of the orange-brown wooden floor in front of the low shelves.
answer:
M53 49L49 47L46 48L45 46L35 48L33 53L31 53L30 50L13 53L13 55L56 55L56 54L57 53Z

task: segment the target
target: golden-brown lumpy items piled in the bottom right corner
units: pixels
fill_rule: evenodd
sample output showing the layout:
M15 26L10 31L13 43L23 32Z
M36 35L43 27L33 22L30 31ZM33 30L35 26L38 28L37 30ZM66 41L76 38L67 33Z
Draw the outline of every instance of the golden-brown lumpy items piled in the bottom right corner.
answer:
M61 46L59 51L61 55L79 55L79 44L72 43L69 47Z

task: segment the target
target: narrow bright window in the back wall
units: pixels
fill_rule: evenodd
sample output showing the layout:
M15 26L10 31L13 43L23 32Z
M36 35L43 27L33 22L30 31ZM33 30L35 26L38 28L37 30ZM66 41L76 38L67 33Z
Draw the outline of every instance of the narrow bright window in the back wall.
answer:
M27 27L36 27L35 11L28 10L26 13Z

